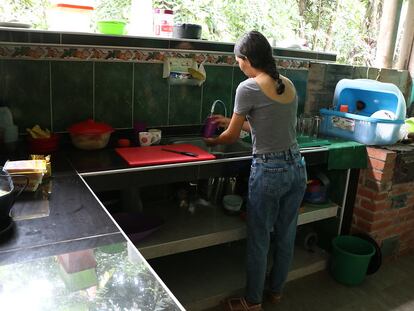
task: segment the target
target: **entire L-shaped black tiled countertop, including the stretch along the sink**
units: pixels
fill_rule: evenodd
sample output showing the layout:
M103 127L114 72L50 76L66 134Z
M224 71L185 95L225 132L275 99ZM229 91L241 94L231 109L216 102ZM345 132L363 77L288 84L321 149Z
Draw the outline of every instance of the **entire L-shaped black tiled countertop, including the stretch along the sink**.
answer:
M320 164L327 161L329 152L314 147L302 148L302 153L308 164ZM24 158L24 152L10 158ZM113 309L112 303L123 308L179 310L180 303L89 187L95 191L220 176L224 166L231 175L250 165L250 159L246 155L129 167L110 148L93 152L69 148L54 154L53 178L42 184L42 195L24 193L14 205L14 212L23 219L15 221L13 237L0 244L0 299L13 307L29 303L31 310L36 310L35 301L39 310L58 305ZM30 212L31 206L40 206L40 212ZM26 298L19 299L20 295Z

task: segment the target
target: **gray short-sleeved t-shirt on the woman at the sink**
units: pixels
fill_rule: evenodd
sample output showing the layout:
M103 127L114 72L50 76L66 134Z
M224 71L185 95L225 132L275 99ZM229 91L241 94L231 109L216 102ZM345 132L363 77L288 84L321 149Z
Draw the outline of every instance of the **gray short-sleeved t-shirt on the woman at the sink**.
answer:
M282 104L267 97L252 78L239 84L234 112L250 123L253 154L287 150L296 143L298 97Z

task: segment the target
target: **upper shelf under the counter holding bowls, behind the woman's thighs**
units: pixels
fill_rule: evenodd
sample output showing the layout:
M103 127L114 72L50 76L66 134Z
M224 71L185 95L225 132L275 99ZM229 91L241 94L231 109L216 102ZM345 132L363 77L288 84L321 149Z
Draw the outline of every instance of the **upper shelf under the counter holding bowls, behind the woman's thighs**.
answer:
M323 220L337 215L339 206L304 206L298 225ZM151 214L165 219L159 230L135 246L146 259L177 254L213 245L242 240L246 237L245 221L238 216L226 215L217 206L202 206L193 214L180 209L172 202L146 206Z

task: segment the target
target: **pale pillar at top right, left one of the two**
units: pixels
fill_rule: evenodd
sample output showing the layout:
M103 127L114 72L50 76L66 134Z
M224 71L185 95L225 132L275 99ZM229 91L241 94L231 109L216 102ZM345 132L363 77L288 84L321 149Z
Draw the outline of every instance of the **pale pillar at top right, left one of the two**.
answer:
M374 62L375 67L392 68L402 3L403 0L384 0Z

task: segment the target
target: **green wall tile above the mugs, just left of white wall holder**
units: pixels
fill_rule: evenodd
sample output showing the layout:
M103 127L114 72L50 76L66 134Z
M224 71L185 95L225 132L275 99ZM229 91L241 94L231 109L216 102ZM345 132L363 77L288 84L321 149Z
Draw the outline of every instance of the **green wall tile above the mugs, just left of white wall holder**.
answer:
M162 64L134 65L134 121L147 126L168 124L168 81Z

